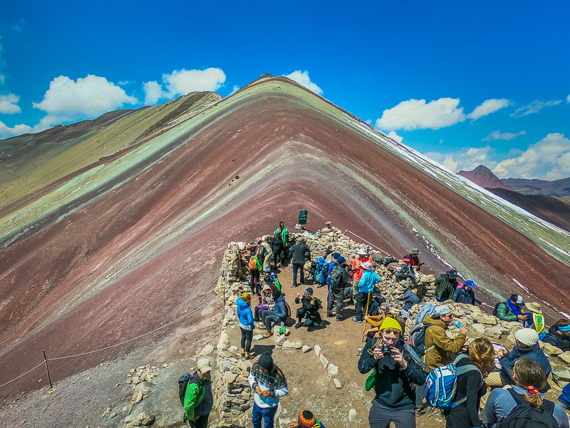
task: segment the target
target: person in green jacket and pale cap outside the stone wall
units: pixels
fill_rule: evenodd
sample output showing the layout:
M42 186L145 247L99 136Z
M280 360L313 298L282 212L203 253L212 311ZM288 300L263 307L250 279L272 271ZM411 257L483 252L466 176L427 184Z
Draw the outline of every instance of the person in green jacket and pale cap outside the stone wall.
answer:
M198 370L192 374L184 399L184 422L188 421L192 428L206 428L209 413L214 406L212 395L212 381L210 380L212 367L207 358L198 360Z

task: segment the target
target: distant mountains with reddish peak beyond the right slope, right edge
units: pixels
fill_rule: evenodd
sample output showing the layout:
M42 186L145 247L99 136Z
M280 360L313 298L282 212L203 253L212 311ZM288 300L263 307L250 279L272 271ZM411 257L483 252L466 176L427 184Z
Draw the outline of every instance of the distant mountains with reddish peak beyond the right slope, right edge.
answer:
M500 180L489 168L479 165L474 170L457 173L529 213L570 232L570 178L561 180Z

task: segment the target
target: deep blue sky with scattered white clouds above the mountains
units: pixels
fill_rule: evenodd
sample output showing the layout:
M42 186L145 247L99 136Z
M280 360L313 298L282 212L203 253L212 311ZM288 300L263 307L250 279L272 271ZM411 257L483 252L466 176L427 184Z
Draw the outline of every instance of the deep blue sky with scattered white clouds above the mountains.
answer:
M431 4L432 3L432 4ZM0 138L291 76L451 170L570 176L570 4L20 1Z

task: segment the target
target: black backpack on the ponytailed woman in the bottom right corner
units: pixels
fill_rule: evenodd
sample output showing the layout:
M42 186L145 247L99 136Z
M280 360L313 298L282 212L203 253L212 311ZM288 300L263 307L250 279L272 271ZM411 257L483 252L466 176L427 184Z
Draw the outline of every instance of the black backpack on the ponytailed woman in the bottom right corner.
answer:
M545 399L541 406L531 406L512 388L509 393L517 405L495 428L558 428L554 418L554 403Z

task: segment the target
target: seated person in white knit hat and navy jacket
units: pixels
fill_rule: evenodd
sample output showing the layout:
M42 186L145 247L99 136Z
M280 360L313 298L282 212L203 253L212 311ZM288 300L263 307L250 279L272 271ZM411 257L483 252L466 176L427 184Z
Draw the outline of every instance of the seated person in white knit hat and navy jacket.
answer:
M514 332L514 347L511 352L507 354L505 350L497 351L497 357L499 357L499 363L501 365L500 372L492 372L489 374L485 382L489 387L504 387L504 385L514 384L512 377L512 368L514 363L523 358L531 358L539 363L544 374L546 374L546 379L548 379L552 367L544 352L539 346L539 335L537 331L533 328L522 328ZM544 388L541 388L541 392L546 392L550 389L550 385L546 382Z

